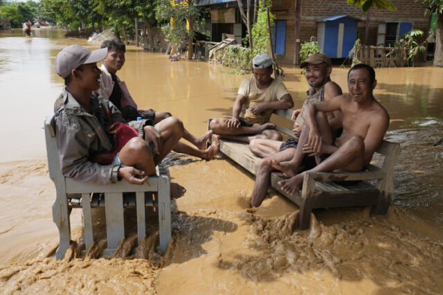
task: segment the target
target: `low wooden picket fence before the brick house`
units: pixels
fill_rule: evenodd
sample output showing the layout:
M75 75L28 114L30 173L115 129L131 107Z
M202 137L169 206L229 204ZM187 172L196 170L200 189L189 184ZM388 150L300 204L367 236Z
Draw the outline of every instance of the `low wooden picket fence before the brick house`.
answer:
M406 48L360 45L354 54L360 62L374 68L408 66Z

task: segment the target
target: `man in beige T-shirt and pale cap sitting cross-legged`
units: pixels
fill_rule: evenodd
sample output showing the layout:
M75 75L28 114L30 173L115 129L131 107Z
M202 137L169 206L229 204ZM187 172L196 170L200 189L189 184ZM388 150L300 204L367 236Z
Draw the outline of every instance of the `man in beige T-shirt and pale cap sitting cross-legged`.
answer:
M249 143L254 138L281 141L282 135L269 123L274 109L293 107L291 94L284 84L271 78L273 62L267 54L255 55L252 61L254 75L246 77L239 87L232 118L215 118L210 129L221 138Z

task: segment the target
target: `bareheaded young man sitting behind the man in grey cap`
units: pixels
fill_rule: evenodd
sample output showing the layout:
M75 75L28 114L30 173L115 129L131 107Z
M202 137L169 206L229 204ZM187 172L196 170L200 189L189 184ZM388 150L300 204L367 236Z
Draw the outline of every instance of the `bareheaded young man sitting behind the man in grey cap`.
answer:
M129 94L125 82L121 81L116 75L117 71L120 71L125 64L126 46L123 42L118 39L105 40L101 48L107 48L108 54L100 67L102 74L100 75L100 88L97 90L100 96L114 103L127 121L136 120L140 116L141 118L152 120L155 125L165 118L172 117L172 114L168 111L138 108L136 102ZM195 147L179 141L174 147L174 151L199 157L206 161L213 159L219 151L220 143L218 136L216 136L213 143L206 148L206 142L212 134L213 131L210 130L206 134L197 137L185 128L183 138L195 145Z

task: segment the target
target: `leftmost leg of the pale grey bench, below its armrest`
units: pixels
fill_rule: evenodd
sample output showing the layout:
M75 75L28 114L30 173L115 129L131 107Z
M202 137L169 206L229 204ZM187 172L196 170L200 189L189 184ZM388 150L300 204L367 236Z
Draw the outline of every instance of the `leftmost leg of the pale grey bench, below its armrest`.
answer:
M57 198L53 204L53 221L58 228L60 234L60 242L55 251L56 259L63 259L64 253L69 248L71 242L71 223L68 213L68 199L66 194L57 193Z

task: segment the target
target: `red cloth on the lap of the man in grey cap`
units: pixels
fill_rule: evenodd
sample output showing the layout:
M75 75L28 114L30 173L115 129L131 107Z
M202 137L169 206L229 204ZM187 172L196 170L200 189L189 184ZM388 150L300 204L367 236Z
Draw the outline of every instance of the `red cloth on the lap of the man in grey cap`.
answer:
M122 147L133 137L138 136L138 132L136 129L132 128L129 125L126 125L125 123L116 122L109 127L108 132L110 134L114 135L114 138L116 138L116 149L114 152L109 153L102 153L97 154L96 157L93 158L94 162L103 164L103 165L109 165L114 161L114 157Z

